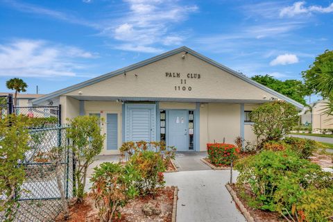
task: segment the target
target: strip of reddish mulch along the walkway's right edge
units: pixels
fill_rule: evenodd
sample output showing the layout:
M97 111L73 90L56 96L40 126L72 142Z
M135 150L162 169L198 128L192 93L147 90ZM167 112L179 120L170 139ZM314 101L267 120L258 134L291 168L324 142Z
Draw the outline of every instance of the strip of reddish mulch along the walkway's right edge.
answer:
M247 200L245 200L244 198L241 198L241 196L239 195L239 189L236 187L236 185L232 184L232 185L230 185L230 187L234 192L236 192L237 197L239 198L239 200L241 200L241 203L244 205L246 210L250 213L250 216L252 216L255 221L260 221L260 222L285 221L285 219L283 219L280 216L280 214L278 214L277 212L268 212L268 211L264 211L264 210L255 209L253 207L249 207ZM250 196L252 195L252 194L250 194L250 191L246 191L246 194L248 194ZM239 208L237 205L236 205L236 207Z

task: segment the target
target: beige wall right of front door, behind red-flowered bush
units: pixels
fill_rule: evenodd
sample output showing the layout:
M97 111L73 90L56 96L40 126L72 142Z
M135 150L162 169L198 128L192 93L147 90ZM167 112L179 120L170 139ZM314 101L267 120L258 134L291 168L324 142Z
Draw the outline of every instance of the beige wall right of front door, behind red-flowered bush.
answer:
M234 144L241 132L241 107L239 104L206 103L200 105L200 151L207 143Z

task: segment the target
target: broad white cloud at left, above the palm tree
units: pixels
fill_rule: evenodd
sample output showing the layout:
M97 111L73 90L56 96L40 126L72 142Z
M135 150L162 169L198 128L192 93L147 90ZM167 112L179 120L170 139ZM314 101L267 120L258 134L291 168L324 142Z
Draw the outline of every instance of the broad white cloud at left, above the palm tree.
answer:
M0 76L76 76L76 71L84 68L76 60L94 57L94 53L74 46L43 40L15 40L0 44Z

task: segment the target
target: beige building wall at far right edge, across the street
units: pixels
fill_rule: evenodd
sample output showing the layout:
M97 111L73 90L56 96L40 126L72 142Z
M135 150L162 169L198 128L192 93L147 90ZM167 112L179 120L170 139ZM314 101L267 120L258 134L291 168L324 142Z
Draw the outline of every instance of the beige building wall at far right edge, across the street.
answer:
M325 114L325 102L317 103L312 108L312 130L333 128L333 115Z

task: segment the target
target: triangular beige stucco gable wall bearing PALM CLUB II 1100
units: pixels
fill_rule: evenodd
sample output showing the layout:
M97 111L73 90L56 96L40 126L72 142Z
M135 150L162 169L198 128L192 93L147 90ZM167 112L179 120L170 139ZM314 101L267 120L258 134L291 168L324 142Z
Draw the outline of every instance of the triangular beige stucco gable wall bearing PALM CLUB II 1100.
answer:
M271 98L262 89L233 76L190 54L169 56L150 65L126 71L99 83L89 85L67 95L78 96L130 96L200 99L263 99ZM166 72L180 73L180 78L166 76ZM135 76L137 74L137 76ZM187 74L200 74L200 78L188 78ZM186 80L186 84L184 84ZM181 83L183 81L183 84ZM180 90L178 90L178 86ZM177 90L175 89L177 87ZM186 90L183 91L182 87ZM191 91L189 91L191 87Z

